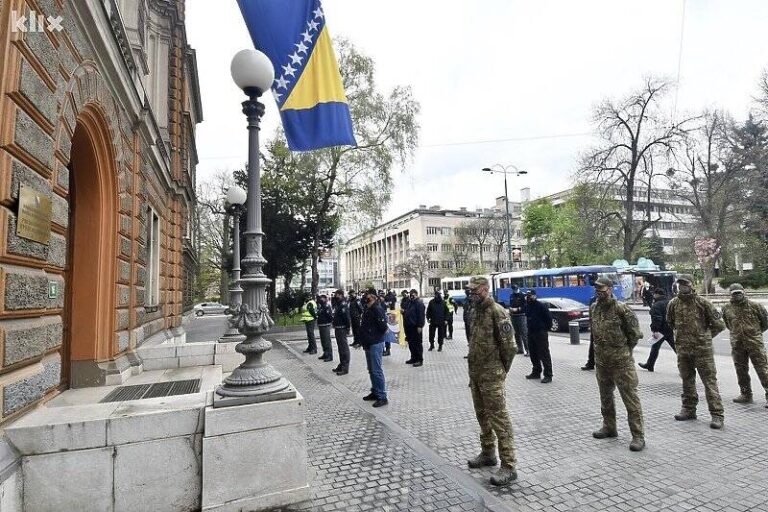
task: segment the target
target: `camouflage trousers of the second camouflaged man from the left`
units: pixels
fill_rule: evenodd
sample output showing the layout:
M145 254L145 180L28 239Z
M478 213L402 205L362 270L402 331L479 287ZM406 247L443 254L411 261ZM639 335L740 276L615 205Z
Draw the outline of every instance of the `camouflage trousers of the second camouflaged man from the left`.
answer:
M637 372L634 360L621 364L602 364L596 361L595 376L600 390L600 412L603 414L603 426L606 430L616 431L616 404L613 391L619 388L619 395L627 409L627 422L632 437L645 438L643 431L643 410L637 394Z

